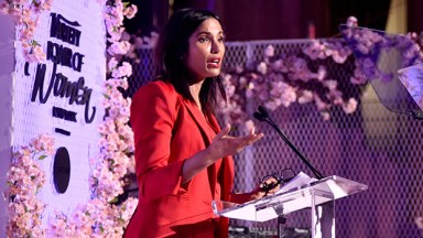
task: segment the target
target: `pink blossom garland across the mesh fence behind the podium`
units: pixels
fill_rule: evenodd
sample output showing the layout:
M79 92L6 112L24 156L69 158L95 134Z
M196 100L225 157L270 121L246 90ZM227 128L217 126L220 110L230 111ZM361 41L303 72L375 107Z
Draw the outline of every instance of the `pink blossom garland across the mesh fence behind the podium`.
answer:
M253 67L238 66L224 74L229 99L221 102L220 113L227 123L246 121L248 116L245 113L245 107L246 101L250 99L270 110L281 106L289 107L294 102L314 102L324 120L330 119L330 109L334 106L341 107L346 113L352 113L357 110L359 100L343 90L346 84L359 87L367 84L369 75L392 78L392 75L376 72L375 62L371 61L376 44L379 44L379 47L401 46L405 52L404 65L423 62L421 51L423 33L420 36L416 33L409 33L408 36L411 41L405 44L394 41L395 39L383 42L381 35L371 31L351 32L350 40L356 41L361 54L368 57L356 58L355 69L347 82L332 78L325 66L328 65L328 61L344 64L352 54L345 41L313 40L301 53L292 55L276 55L274 46L268 45L263 60ZM321 62L325 64L311 69L311 63Z

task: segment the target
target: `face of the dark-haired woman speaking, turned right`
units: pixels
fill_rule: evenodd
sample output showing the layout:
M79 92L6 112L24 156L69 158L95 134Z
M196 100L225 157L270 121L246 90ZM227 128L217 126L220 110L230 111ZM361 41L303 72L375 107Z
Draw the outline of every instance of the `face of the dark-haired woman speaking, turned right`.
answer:
M185 63L192 74L192 83L218 76L225 55L224 31L220 23L214 18L206 19L189 36L188 44Z

